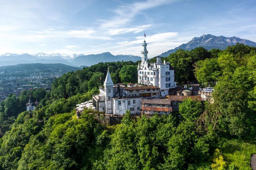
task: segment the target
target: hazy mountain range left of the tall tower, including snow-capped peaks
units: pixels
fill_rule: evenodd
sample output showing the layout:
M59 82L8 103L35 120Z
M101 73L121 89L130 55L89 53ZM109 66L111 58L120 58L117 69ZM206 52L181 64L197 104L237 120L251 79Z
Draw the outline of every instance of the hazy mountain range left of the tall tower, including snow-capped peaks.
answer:
M133 61L140 60L139 56L134 55L112 55L109 52L101 54L73 54L73 55L61 55L59 53L46 54L37 53L35 55L30 54L12 54L6 53L0 55L0 66L25 64L25 63L61 63L70 65L73 67L77 66L91 66L99 62L116 62L116 61Z

